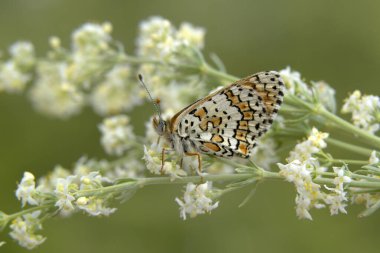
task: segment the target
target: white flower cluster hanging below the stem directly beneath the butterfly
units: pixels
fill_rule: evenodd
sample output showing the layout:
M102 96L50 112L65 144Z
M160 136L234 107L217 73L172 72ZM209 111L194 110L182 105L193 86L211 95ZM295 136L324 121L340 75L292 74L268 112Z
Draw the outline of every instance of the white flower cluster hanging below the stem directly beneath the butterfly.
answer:
M213 203L212 197L211 182L200 185L188 183L183 200L175 199L180 206L180 217L186 220L187 214L193 218L199 214L210 213L219 205L219 202Z

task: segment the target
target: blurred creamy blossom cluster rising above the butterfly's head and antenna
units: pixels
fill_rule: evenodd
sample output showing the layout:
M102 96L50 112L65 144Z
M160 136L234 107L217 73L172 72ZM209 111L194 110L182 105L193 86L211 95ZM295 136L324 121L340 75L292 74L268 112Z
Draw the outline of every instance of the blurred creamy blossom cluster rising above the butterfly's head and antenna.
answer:
M179 75L199 67L196 52L203 48L204 35L203 28L183 23L176 29L161 17L152 17L140 24L137 55L164 64L142 64L139 71L146 76L153 94L165 98L161 107L168 115L206 94L206 85L199 78Z

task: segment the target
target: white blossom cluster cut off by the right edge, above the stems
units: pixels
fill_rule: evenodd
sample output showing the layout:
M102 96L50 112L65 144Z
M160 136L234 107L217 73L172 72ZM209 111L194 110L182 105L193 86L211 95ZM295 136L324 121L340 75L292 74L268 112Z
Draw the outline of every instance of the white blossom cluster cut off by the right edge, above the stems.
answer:
M380 128L380 98L373 95L362 95L359 90L354 91L342 107L343 113L352 114L355 126L370 133Z

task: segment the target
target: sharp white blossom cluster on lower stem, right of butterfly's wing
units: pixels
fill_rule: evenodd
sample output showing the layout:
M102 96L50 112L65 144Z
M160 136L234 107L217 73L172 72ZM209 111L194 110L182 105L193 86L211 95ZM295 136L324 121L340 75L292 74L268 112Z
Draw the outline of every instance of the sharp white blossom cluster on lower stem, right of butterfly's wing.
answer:
M331 215L346 213L347 193L344 190L344 183L351 182L351 178L346 174L347 169L343 167L333 167L335 174L335 188L325 187L327 191L321 189L321 185L313 182L315 175L325 172L327 168L322 167L313 155L324 149L327 144L325 139L327 133L313 128L308 139L297 144L287 158L288 164L278 163L280 175L287 181L294 183L296 196L296 213L299 218L312 219L310 209L329 206Z

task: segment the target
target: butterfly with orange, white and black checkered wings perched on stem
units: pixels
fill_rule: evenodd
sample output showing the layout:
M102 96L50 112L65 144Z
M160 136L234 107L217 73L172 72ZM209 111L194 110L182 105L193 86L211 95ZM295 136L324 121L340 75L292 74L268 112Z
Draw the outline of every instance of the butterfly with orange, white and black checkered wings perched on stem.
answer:
M141 75L139 79L146 88ZM199 171L200 154L249 158L257 140L271 127L284 89L278 72L259 72L199 99L168 120L154 103L158 116L153 126L182 157L197 156ZM163 149L162 161L164 154Z

